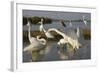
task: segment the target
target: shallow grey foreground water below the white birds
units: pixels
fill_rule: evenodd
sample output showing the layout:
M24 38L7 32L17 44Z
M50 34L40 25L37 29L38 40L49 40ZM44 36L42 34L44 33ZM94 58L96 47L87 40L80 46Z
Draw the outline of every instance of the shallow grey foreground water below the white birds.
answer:
M33 61L58 61L58 60L82 60L91 59L91 41L85 40L82 35L79 38L79 42L82 47L79 48L75 53L74 51L61 51L61 48L57 45L58 41L48 41L46 48L40 51L33 52L31 55L28 52L23 52L23 62ZM23 48L28 46L29 42L23 43Z

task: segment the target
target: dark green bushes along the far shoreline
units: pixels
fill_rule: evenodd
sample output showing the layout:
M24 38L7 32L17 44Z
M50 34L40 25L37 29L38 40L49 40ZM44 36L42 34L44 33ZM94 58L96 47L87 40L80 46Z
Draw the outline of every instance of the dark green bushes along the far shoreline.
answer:
M38 22L41 21L41 18L44 19L43 24L51 24L53 21L60 21L61 19L52 19L48 17L38 17L38 16L33 16L33 17L23 17L23 25L27 24L27 19L31 22L31 24L34 25L39 25ZM83 22L82 19L77 19L77 20L63 20L64 22ZM86 19L87 22L91 22L91 20Z

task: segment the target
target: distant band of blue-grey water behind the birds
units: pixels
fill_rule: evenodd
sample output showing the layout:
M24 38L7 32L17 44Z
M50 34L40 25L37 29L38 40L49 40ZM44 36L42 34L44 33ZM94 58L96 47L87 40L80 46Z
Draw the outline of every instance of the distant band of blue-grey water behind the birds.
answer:
M67 25L67 27L66 28L69 28L70 26L69 26L69 22L65 22L65 24ZM90 25L90 23L88 22L87 23L87 26L85 26L85 24L83 23L83 22L72 22L72 28L77 28L77 27L80 27L80 28L90 28L91 27L91 25ZM32 25L31 26L31 30L32 31L34 31L34 30L39 30L39 26L40 25ZM47 30L47 29L49 29L49 28L57 28L57 29L64 29L64 27L60 24L60 22L59 21L53 21L52 22L52 24L45 24L44 25L44 28ZM24 31L27 31L27 26L26 25L24 25L23 26L23 30Z

